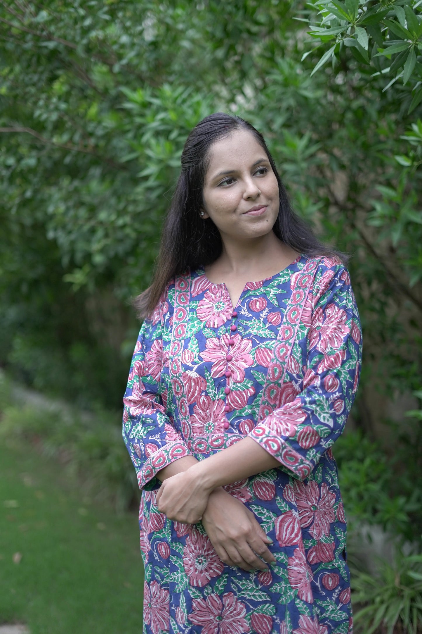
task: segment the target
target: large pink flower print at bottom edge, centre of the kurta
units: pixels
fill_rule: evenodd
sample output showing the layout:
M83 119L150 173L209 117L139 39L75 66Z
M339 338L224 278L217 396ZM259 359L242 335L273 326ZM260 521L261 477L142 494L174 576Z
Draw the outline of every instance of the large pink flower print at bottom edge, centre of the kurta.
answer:
M223 597L211 594L206 599L194 599L192 608L189 621L202 625L202 634L245 634L251 631L245 619L245 605L237 600L233 592L225 592Z

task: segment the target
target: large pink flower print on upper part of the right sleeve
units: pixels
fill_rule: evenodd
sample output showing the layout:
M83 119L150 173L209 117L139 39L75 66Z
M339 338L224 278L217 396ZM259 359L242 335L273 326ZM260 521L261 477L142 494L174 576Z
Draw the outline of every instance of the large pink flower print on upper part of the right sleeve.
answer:
M323 310L320 306L315 309L312 326L308 333L309 346L316 346L318 350L326 352L332 348L339 348L345 335L349 332L346 325L347 314L335 304L328 304Z

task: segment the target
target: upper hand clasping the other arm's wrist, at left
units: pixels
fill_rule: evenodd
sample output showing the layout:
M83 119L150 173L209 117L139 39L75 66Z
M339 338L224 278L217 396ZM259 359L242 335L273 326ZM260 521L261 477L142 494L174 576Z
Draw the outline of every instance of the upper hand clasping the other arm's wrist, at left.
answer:
M182 471L164 480L157 493L157 506L168 519L182 524L196 524L208 503L209 489L190 471Z

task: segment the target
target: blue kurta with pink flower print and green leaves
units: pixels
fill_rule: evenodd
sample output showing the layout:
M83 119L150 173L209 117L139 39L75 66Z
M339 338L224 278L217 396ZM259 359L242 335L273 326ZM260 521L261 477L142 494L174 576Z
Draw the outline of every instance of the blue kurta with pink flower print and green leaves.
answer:
M361 368L347 269L299 256L248 283L234 308L204 269L171 281L144 321L125 394L123 437L142 488L144 633L347 634L346 524L331 446ZM280 467L225 488L273 540L277 564L225 566L201 522L158 512L156 474L250 436Z

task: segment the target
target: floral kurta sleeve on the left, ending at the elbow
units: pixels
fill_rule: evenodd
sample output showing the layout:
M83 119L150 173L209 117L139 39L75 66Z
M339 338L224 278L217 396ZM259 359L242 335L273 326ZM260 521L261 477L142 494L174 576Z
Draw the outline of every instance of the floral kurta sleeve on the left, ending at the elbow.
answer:
M123 399L123 439L137 472L139 488L157 488L161 484L155 477L159 470L191 453L167 414L167 393L160 380L162 366L161 321L145 320Z

